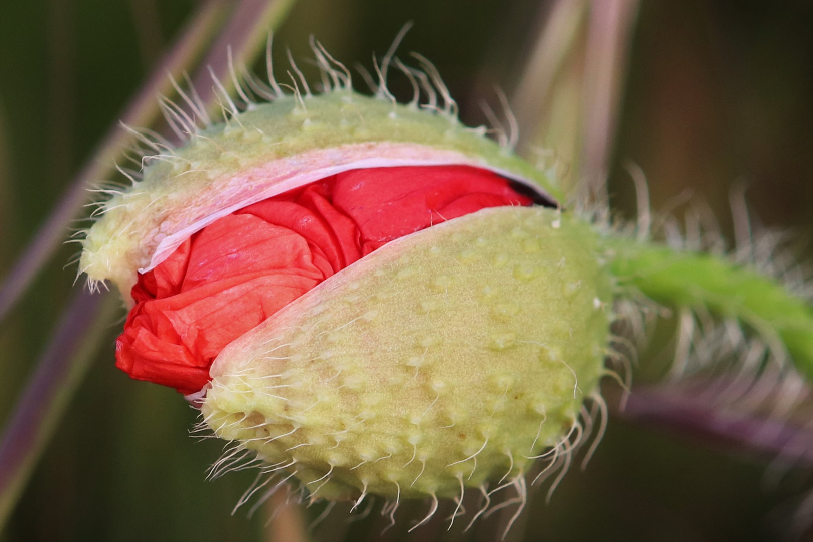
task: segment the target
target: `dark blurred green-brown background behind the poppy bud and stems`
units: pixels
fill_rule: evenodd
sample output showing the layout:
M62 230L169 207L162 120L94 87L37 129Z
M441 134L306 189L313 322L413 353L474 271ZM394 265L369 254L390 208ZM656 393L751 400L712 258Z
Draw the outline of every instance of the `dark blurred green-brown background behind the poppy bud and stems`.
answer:
M0 0L0 277L197 5ZM372 51L383 54L414 20L401 50L436 63L463 121L476 125L494 85L509 96L518 85L548 8L530 0L298 0L276 34L276 54L281 60L290 46L295 58L310 56L313 33L337 59L372 67ZM408 91L406 81L393 88ZM616 137L609 186L622 215L634 213L622 167L631 159L646 173L655 209L692 189L730 233L728 191L745 181L755 215L792 228L807 246L813 2L643 2ZM76 269L63 265L74 253L62 249L0 323L0 427L71 293ZM267 515L229 514L254 475L205 481L222 444L188 435L195 411L176 392L115 370L120 326L110 323L0 541L269 540ZM611 418L585 472L573 468L550 505L542 494L533 499L526 539L779 540L810 473L765 489L767 459ZM415 505L412 517L423 513ZM399 513L402 526L407 516ZM315 540L376 540L386 524L375 513L345 518L337 510ZM491 523L467 536L497 540ZM405 531L386 538L461 536Z

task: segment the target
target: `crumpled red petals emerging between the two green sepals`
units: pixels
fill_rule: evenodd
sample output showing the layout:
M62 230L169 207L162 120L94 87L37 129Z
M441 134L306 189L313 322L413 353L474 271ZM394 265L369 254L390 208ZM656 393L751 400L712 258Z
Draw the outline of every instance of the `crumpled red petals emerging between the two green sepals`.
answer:
M195 233L133 287L116 366L188 395L228 343L389 241L530 198L467 166L345 171Z

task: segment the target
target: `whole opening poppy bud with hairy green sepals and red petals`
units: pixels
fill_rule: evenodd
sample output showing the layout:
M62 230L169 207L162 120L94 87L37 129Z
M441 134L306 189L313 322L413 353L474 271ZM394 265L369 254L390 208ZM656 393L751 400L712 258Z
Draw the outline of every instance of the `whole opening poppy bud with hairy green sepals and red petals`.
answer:
M281 96L151 161L80 261L131 309L119 366L313 498L524 488L596 392L610 280L554 181L450 110Z

